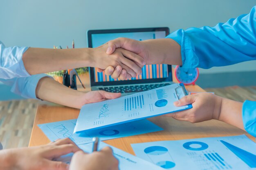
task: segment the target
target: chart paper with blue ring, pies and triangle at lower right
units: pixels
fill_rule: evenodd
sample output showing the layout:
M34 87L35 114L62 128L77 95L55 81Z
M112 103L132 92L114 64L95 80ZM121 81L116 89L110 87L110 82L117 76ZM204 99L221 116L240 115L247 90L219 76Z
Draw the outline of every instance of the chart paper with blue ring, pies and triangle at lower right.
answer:
M256 144L245 135L131 145L137 157L173 170L256 168Z

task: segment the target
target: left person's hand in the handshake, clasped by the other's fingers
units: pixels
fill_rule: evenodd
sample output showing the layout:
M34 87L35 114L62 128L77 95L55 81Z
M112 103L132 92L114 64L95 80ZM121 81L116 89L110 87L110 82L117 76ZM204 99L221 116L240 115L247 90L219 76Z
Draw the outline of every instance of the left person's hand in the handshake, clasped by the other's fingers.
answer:
M115 52L111 54L106 54L107 48L108 44L93 48L94 52L92 56L94 56L94 58L92 59L92 65L98 68L97 71L101 72L108 66L116 68L117 65L120 65L121 68L126 70L132 77L142 73L141 68L146 63L142 57L122 48L116 49Z

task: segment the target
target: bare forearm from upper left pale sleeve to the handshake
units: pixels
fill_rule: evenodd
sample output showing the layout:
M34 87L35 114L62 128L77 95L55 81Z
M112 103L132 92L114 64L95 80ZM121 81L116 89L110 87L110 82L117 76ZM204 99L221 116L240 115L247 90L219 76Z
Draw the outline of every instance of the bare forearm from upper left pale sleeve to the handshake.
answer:
M31 75L92 66L92 49L29 48L22 57L25 69Z

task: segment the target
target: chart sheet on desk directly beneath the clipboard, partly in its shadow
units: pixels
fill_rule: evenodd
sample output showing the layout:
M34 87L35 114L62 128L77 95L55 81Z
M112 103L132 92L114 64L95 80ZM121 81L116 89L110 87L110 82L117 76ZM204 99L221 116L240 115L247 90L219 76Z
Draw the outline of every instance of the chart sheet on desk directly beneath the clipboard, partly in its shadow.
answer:
M75 125L76 119L38 124L40 129L51 141L69 137L77 145L92 142L92 137L94 136L99 137L100 140L108 140L163 130L161 127L146 119L73 134Z

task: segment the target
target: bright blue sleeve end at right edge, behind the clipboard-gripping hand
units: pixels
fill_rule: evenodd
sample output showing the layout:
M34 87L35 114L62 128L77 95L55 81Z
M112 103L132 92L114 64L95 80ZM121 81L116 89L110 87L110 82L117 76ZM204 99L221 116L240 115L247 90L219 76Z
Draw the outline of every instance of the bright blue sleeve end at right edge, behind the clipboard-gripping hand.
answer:
M256 137L256 101L246 100L243 103L242 117L245 130Z

